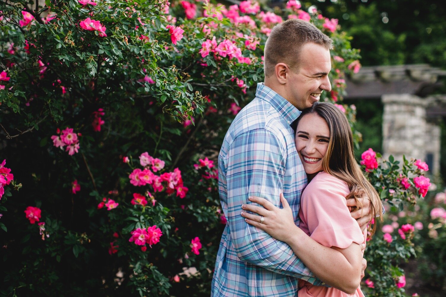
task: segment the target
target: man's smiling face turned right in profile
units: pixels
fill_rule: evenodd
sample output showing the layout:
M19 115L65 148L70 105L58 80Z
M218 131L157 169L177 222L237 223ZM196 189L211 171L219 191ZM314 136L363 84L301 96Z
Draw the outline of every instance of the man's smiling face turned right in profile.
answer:
M303 45L298 68L290 70L286 99L297 109L303 110L319 101L323 90L330 92L330 51L321 45L312 42Z

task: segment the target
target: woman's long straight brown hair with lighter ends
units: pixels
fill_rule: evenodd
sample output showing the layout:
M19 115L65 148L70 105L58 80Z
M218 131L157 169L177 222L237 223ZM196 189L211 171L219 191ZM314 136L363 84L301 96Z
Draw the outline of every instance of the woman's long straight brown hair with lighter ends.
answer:
M317 114L323 118L330 129L330 141L325 156L322 159L323 170L347 183L350 193L346 199L354 198L360 208L358 198L364 194L371 200L372 218L382 220L382 203L380 196L372 184L366 179L356 162L353 149L353 136L345 114L335 105L328 102L316 102L310 108L302 111L299 120L306 114ZM370 232L376 230L372 224Z

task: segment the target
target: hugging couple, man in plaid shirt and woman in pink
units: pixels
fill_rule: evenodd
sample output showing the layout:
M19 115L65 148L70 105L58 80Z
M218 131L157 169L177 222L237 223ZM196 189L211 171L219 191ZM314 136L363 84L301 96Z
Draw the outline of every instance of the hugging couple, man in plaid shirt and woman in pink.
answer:
M346 116L318 102L331 90L332 42L301 20L266 41L265 81L219 154L227 225L211 296L364 296L367 227L382 204L355 161Z

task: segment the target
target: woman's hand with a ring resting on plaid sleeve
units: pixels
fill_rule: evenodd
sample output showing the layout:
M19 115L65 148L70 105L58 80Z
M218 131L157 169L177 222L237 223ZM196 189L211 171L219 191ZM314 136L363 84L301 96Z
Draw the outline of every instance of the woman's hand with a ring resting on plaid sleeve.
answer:
M291 232L296 232L293 230L299 229L294 224L293 212L283 194L280 194L280 201L283 208L275 207L273 203L264 198L250 196L248 199L263 206L242 205L244 212L241 215L248 224L262 229L275 239L283 242L287 242L290 239ZM254 214L249 214L246 211L254 212ZM264 220L263 223L260 223L262 216Z

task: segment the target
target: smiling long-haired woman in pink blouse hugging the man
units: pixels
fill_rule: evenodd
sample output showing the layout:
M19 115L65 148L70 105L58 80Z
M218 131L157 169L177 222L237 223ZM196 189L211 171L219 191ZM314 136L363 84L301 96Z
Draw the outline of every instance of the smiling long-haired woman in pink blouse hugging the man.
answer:
M365 244L367 230L361 232L350 215L346 199L353 197L356 200L361 195L368 195L372 201L372 217L376 217L376 210L382 209L380 197L355 161L350 125L339 108L316 102L302 111L298 121L296 148L310 181L301 196L299 228L282 194L282 209L266 199L249 197L250 201L264 208L243 205L244 211L258 215L242 212L242 216L248 224L289 244L316 276L328 269L333 277L330 283L335 279L339 284L336 287L347 288L343 290L345 293L334 287L314 286L300 280L299 297L363 297L359 288L363 256L360 244ZM378 214L382 216L380 211ZM373 225L372 233L374 229ZM313 240L339 251L339 256L326 259L324 267L314 265L311 259L319 255L311 253L311 246L317 244Z

